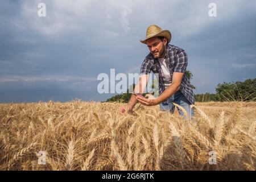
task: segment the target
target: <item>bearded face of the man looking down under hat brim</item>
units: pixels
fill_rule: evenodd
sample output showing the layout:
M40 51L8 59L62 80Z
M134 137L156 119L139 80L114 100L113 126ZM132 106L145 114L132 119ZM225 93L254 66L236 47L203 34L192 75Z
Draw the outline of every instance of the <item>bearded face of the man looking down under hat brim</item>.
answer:
M160 40L158 37L154 37L151 39L148 39L146 41L147 47L150 50L150 53L155 57L164 57L165 51L166 51L166 43L167 40L164 38L164 41Z

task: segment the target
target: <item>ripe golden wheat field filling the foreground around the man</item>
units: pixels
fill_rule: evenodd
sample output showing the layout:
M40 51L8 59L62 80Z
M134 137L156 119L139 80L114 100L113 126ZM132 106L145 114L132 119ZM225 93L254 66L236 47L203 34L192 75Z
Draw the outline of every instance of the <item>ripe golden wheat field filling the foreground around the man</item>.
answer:
M170 114L136 105L120 115L119 106L80 100L0 104L0 169L256 168L256 102L197 102L192 121L177 109Z

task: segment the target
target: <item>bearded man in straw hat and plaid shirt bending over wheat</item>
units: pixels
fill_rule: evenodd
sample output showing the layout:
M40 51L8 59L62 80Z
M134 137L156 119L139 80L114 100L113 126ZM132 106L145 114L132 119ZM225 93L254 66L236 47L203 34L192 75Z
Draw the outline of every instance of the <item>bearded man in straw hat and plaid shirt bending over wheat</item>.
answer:
M151 25L147 28L146 39L141 40L146 44L150 53L141 65L141 77L135 86L134 93L142 93L146 89L149 73L159 74L159 96L154 98L146 94L146 98L132 94L129 103L121 106L119 112L131 111L140 102L145 106L160 105L160 110L174 113L175 106L172 102L183 107L191 119L194 114L192 104L195 104L192 85L185 74L188 65L188 56L184 49L170 45L171 32ZM177 108L179 114L185 118L182 110Z

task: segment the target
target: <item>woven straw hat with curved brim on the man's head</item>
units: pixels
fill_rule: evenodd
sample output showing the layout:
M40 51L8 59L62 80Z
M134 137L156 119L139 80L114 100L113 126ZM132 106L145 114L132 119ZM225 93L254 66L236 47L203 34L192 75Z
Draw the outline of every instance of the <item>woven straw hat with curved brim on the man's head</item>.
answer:
M143 44L146 44L146 40L150 38L154 38L155 36L163 36L167 39L167 44L171 41L172 35L168 30L162 30L162 28L152 24L147 27L146 39L140 40Z

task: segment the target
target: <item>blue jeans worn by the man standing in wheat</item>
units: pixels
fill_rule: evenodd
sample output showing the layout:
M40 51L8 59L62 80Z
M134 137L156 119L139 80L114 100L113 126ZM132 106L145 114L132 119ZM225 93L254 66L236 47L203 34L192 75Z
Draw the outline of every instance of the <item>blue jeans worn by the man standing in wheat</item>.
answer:
M194 113L195 113L195 110L194 108L191 109L190 105L191 103L187 100L187 98L185 98L185 96L183 95L183 93L179 91L177 91L176 93L174 93L171 97L169 97L167 99L167 104L163 104L160 103L160 110L162 111L170 111L170 113L174 113L174 110L175 110L175 105L172 104L172 102L174 102L175 104L183 107L186 111L187 111L187 114L188 114L188 119L192 119ZM179 114L187 119L183 113L182 110L180 110L179 108L177 108L177 110L179 111Z

